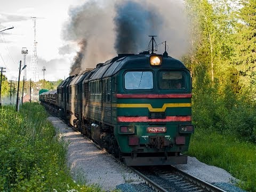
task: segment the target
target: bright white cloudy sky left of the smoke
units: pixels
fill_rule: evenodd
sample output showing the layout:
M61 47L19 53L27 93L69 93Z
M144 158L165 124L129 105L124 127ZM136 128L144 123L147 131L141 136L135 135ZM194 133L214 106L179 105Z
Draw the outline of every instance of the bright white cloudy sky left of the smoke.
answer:
M36 19L36 42L38 58L38 75L43 79L43 66L46 67L45 79L57 81L69 75L73 53L61 55L59 47L65 45L62 39L63 25L68 20L68 11L72 6L83 4L83 0L44 0L1 2L0 30L4 27L14 27L0 33L0 67L6 67L9 80L18 79L19 61L22 61L22 47L27 47L26 55L27 79L30 78L30 61L33 54L34 29L31 17Z

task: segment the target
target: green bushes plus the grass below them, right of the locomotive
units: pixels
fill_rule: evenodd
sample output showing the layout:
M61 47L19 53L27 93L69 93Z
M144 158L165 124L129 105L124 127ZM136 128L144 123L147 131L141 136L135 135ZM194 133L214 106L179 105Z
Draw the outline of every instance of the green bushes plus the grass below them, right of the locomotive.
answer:
M255 100L228 81L212 83L202 69L197 72L192 105L196 128L188 155L225 169L240 180L237 186L256 191Z

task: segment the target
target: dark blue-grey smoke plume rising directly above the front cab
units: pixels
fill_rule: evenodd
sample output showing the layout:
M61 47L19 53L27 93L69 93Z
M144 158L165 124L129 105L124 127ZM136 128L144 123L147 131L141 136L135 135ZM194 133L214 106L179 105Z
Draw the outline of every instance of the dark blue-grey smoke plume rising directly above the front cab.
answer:
M137 2L128 1L116 4L114 18L117 53L136 53L145 49L148 35L158 35L162 28L162 17L153 6L146 7Z

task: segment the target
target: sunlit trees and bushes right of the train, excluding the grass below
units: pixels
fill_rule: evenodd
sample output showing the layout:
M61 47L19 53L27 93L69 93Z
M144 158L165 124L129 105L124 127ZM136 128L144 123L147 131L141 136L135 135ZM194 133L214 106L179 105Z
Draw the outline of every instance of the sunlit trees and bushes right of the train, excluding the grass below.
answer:
M193 75L193 123L205 129L233 130L237 137L256 142L256 110L252 107L255 106L252 91L256 90L256 84L253 86L252 82L256 81L250 70L237 67L239 63L254 69L256 22L253 7L256 1L243 1L240 12L232 9L226 0L185 2L191 25L191 49L183 62ZM236 43L241 46L229 43L239 35L242 40L237 39ZM243 41L247 41L246 46ZM233 60L237 55L243 57L235 63ZM245 86L244 78L250 80L251 86Z

